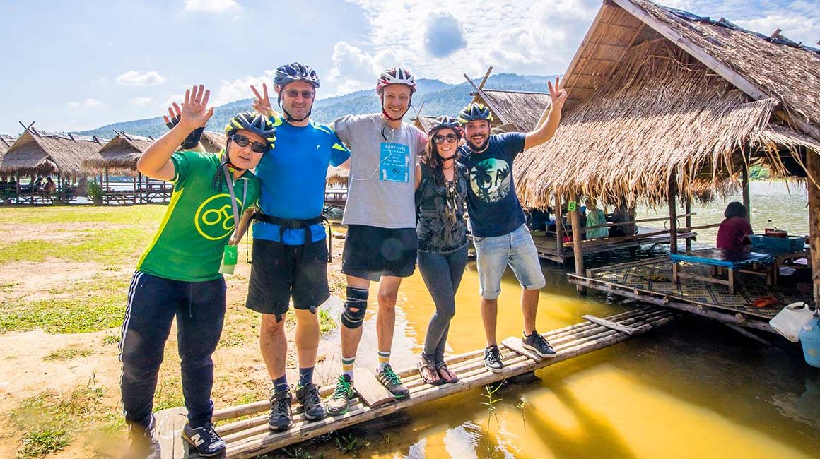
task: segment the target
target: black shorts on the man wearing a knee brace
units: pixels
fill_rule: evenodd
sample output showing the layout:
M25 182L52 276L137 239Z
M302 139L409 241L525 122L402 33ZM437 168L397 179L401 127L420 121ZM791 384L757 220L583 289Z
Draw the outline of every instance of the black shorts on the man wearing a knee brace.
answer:
M348 225L342 252L342 272L378 281L383 275L409 277L416 270L415 228Z

